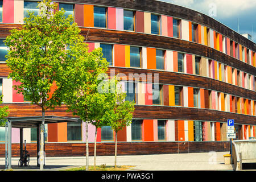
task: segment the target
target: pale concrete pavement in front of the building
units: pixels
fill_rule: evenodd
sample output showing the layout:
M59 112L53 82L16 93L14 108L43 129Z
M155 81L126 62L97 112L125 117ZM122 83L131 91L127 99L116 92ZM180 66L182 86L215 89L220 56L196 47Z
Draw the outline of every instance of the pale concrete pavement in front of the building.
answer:
M224 164L223 155L228 152L208 152L195 154L162 154L117 156L117 165L135 166L131 170L143 171L194 171L194 170L233 170L231 164ZM19 158L13 158L14 170L38 170L36 158L30 159L29 167L18 167ZM114 156L97 156L96 165L114 166ZM93 165L93 156L89 157ZM85 166L85 157L46 157L46 170L63 170L71 167ZM5 158L0 158L0 169L5 168Z

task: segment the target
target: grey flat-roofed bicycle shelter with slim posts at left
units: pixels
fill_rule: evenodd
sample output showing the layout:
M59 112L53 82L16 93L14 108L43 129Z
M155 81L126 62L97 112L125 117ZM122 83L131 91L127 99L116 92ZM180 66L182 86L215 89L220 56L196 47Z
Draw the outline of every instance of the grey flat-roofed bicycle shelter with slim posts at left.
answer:
M11 128L16 127L20 129L20 156L22 155L23 150L23 128L37 128L37 152L40 151L40 125L42 123L42 116L34 116L34 117L10 117L7 119L6 125L6 154L5 154L5 162L6 168L11 168ZM51 123L60 123L60 122L78 122L80 118L67 118L67 117L57 117L54 115L46 115L45 122L46 124ZM8 130L7 130L8 127ZM8 134L7 134L8 133ZM8 141L8 144L7 144ZM8 150L7 150L8 146ZM39 158L39 156L38 156ZM39 163L38 163L39 166Z

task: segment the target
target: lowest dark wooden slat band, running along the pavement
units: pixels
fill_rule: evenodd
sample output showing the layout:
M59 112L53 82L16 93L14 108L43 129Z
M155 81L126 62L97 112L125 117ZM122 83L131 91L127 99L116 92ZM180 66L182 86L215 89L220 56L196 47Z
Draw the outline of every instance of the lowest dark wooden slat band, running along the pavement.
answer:
M97 143L97 156L114 155L115 143ZM12 156L19 157L19 143L11 145ZM85 143L46 143L46 158L53 156L85 156ZM27 143L27 151L36 157L36 143ZM93 156L94 143L89 143ZM229 142L118 142L117 155L182 154L229 151ZM0 157L5 157L5 144L0 144Z

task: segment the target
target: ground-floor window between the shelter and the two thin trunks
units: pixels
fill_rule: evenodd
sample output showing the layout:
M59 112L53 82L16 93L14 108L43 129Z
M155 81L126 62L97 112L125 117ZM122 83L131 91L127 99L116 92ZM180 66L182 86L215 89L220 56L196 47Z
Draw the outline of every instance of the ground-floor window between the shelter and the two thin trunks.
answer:
M82 140L82 122L68 122L68 140Z

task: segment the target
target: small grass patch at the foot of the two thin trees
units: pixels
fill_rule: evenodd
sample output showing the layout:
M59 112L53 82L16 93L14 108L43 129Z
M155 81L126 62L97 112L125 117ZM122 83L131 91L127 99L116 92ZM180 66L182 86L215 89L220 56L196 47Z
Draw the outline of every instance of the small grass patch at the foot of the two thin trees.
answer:
M127 169L130 169L134 166L117 166L117 168L114 168L114 166L96 166L94 169L93 166L89 166L89 171L126 171ZM76 168L70 168L65 169L65 171L85 171L85 166L82 167L76 167Z

